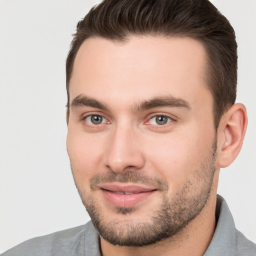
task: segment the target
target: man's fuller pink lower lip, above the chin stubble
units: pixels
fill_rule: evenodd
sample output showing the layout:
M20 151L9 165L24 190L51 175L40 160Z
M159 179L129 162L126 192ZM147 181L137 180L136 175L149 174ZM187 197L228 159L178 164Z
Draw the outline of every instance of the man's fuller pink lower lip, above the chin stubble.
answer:
M112 205L116 207L132 207L138 202L145 200L152 193L156 192L156 190L139 192L134 194L116 194L109 190L101 189L104 197L108 200Z

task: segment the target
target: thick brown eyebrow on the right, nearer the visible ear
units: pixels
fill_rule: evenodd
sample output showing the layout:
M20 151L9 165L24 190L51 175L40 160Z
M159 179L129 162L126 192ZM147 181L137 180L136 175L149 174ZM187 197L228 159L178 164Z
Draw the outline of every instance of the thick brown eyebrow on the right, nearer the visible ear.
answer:
M145 100L135 106L135 111L147 110L154 107L179 107L191 110L190 104L181 98L174 96L159 96L149 100Z

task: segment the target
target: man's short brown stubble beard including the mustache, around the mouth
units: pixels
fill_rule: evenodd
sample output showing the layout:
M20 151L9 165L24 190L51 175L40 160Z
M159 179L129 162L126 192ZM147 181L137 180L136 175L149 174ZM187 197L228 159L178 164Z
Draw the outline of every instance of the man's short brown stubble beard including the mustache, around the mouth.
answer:
M212 180L215 172L216 138L208 157L201 162L200 167L193 172L196 180L188 180L172 196L168 196L168 184L163 179L150 178L137 171L115 173L109 171L102 175L96 174L90 179L90 188L100 181L105 182L134 182L142 184L158 185L162 194L162 202L157 209L152 210L150 221L136 222L125 220L123 215L132 214L134 207L116 207L118 218L110 221L104 220L104 213L100 203L92 196L78 189L82 202L91 218L91 221L99 235L113 245L120 246L145 246L164 238L173 236L195 218L204 208L211 190ZM200 185L198 191L193 191ZM192 194L192 195L191 195Z

